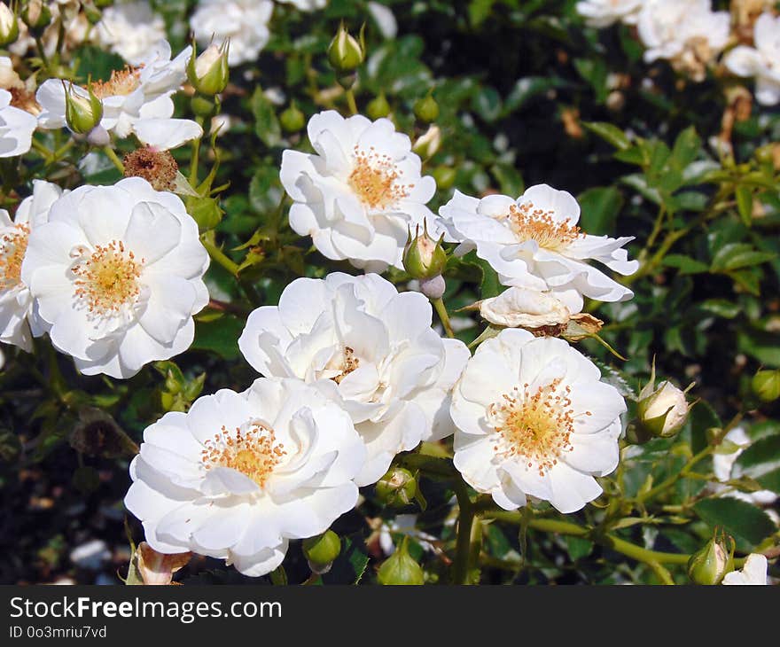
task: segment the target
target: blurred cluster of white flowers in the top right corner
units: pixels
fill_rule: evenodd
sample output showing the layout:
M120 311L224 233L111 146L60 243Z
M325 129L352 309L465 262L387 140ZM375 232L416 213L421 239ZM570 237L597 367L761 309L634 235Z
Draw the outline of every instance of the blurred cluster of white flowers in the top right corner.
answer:
M711 0L581 0L576 6L590 27L636 27L646 62L667 59L696 82L737 40L729 12L713 11ZM732 74L755 79L759 103L780 103L780 16L766 7L754 23L753 47L737 45L723 64Z

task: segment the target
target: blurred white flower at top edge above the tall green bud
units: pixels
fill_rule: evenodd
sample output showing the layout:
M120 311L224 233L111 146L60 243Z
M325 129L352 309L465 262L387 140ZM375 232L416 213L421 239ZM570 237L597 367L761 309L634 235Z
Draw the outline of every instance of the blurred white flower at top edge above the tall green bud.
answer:
M228 65L256 60L269 41L270 0L200 0L190 28L201 45L230 38Z

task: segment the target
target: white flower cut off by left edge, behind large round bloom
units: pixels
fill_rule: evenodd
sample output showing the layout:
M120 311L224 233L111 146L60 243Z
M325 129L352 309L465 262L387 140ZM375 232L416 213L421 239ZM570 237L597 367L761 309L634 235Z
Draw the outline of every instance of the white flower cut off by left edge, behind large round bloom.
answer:
M33 180L33 195L21 201L13 222L0 209L0 341L26 351L42 331L33 313L32 295L21 279L22 261L30 231L48 220L49 208L61 195L57 184Z

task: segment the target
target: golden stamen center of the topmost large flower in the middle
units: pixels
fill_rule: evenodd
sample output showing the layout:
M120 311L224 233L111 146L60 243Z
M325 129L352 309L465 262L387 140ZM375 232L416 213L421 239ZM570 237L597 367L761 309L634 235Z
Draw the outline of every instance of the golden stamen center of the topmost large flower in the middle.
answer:
M398 178L402 173L389 155L380 155L371 146L364 152L355 146L355 167L349 174L348 183L366 207L384 209L392 207L398 200L409 195L414 184L402 184Z

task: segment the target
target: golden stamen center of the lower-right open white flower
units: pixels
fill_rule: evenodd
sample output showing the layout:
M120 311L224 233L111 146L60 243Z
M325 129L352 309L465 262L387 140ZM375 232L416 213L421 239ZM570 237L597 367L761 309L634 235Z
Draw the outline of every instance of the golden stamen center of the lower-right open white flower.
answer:
M562 390L561 380L540 386L535 393L515 386L510 394L487 407L487 420L499 434L493 448L496 456L519 456L529 468L544 476L564 452L572 450L574 412L571 386ZM590 412L586 412L590 415Z

